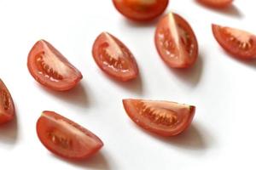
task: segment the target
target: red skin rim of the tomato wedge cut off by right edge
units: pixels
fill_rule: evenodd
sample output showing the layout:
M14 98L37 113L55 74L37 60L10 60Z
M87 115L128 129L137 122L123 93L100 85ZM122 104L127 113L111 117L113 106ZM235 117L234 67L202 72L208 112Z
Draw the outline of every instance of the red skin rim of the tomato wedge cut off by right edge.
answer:
M250 52L244 53L239 50L239 48L232 47L228 42L224 41L224 38L222 38L220 29L222 26L218 26L215 24L212 24L212 33L215 39L217 40L218 44L224 48L226 52L231 54L232 56L236 57L237 59L256 59L256 45L253 46L253 50L250 50ZM253 36L253 42L256 44L256 36Z

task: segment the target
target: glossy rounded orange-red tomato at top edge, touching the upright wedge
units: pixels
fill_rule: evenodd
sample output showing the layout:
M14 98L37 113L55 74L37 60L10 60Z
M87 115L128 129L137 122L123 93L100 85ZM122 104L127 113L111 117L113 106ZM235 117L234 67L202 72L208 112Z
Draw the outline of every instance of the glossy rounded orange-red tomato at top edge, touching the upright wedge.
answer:
M154 20L165 11L168 3L169 0L113 0L119 13L136 21Z

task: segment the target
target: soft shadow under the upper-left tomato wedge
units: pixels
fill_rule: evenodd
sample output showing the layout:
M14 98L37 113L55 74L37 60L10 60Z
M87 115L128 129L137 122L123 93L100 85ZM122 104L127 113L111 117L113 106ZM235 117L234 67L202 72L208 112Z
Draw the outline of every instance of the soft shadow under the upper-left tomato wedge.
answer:
M86 95L86 91L81 82L75 88L64 92L57 92L44 87L43 89L52 96L63 100L67 104L78 105L82 108L90 105L89 98Z

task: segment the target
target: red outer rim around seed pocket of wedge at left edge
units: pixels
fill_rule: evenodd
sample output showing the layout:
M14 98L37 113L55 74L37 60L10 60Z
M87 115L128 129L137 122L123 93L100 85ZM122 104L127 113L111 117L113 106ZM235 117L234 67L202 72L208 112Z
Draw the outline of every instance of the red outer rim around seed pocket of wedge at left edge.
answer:
M14 101L12 99L12 96L11 94L9 93L9 90L8 88L5 86L5 84L3 83L3 81L0 79L0 97L2 98L3 96L3 91L8 95L8 98L9 98L9 111L5 112L3 111L2 112L2 109L3 109L3 104L0 104L0 125L3 125L7 122L10 122L12 121L14 118L15 118L15 104L14 104ZM0 99L0 102L3 102L3 99Z

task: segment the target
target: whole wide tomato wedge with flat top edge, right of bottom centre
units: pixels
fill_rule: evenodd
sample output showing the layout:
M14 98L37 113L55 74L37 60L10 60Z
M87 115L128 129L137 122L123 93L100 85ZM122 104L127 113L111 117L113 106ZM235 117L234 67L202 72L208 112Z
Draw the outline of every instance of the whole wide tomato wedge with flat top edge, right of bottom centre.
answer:
M123 104L133 122L161 136L182 133L195 115L195 106L170 101L123 99Z

